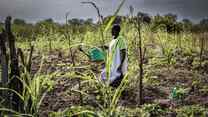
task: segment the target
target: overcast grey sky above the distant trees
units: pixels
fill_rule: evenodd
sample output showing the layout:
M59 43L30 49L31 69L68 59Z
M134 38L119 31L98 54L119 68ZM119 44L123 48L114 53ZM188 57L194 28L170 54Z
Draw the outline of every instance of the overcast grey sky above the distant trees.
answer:
M71 18L96 19L94 8L80 2L89 0L0 0L0 20L7 15L27 21L53 18L63 22L64 15L70 11ZM91 0L100 7L101 13L113 14L121 0ZM126 0L120 14L126 15L129 6L135 11L147 12L151 15L177 13L180 18L199 20L208 17L208 0Z

